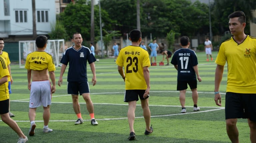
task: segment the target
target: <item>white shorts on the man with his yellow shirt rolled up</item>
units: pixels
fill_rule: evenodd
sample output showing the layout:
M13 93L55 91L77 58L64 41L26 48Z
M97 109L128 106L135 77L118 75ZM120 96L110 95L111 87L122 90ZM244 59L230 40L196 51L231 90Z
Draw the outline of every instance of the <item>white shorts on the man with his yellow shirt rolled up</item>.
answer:
M41 105L51 105L52 93L49 80L32 81L30 90L29 108L37 108Z

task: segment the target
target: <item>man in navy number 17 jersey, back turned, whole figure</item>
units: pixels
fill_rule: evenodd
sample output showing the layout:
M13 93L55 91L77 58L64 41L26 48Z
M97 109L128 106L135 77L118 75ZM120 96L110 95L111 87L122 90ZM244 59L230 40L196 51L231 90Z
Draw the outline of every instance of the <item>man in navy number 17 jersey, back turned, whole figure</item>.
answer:
M189 38L187 36L183 36L180 38L181 49L175 51L172 57L171 64L174 65L176 70L178 71L177 77L177 90L180 91L180 104L181 104L181 113L186 113L187 110L185 108L185 95L188 85L192 91L192 99L194 102L194 111L199 111L200 108L197 107L197 80L201 82L201 77L198 73L198 61L196 57L195 51L188 49L189 47Z

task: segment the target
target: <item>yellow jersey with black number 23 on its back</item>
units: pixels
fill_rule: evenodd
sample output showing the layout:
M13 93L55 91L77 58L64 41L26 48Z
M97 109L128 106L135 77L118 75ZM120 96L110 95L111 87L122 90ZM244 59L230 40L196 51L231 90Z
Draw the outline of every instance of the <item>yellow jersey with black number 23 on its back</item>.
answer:
M143 67L150 66L149 54L139 46L127 46L120 50L116 64L124 67L125 90L147 89Z

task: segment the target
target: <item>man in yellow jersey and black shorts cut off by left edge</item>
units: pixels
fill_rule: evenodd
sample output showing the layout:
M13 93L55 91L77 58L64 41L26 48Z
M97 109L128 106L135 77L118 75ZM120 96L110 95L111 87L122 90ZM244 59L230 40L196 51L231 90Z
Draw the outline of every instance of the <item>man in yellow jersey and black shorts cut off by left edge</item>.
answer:
M10 73L6 61L1 56L0 63L0 116L2 121L19 135L18 143L25 143L28 141L28 138L23 134L18 124L9 116L9 91L7 81Z

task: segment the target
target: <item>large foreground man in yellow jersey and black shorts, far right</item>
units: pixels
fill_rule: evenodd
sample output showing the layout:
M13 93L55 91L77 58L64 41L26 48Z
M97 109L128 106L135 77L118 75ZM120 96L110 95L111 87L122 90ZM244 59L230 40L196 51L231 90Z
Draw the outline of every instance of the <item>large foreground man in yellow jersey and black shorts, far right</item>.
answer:
M237 118L247 118L251 142L256 143L256 38L244 33L244 12L233 12L228 18L233 36L220 45L215 61L214 100L221 106L219 87L227 61L225 118L228 137L232 143L239 143Z

